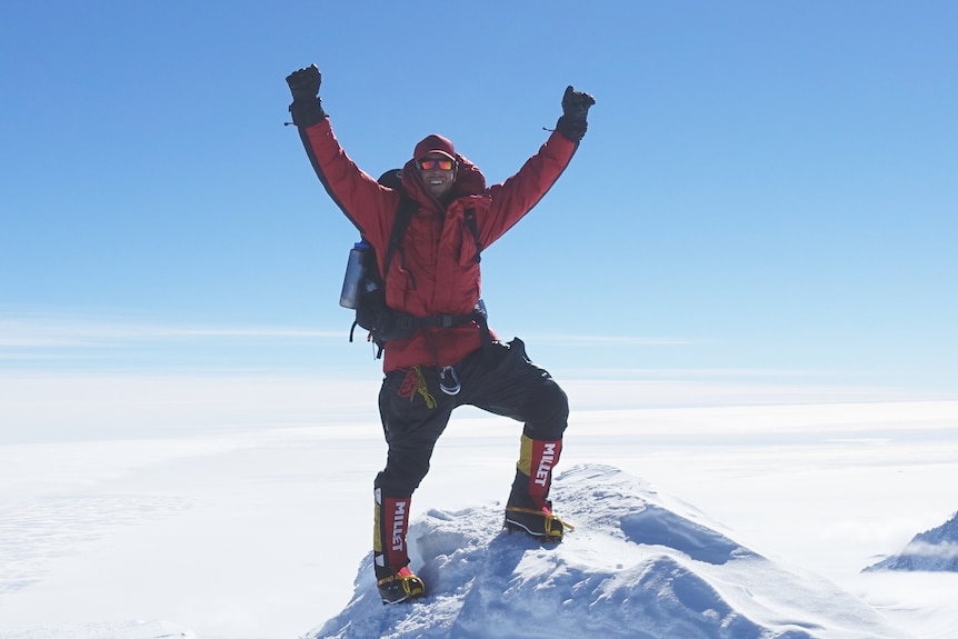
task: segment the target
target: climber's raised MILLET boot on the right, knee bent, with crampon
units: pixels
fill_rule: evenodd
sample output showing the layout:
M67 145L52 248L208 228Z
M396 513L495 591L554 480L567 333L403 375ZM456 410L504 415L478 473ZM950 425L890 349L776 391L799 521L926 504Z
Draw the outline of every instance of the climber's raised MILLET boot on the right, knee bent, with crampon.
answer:
M506 502L506 528L558 543L572 527L552 515L549 488L552 467L559 461L562 440L547 441L522 436L516 479Z

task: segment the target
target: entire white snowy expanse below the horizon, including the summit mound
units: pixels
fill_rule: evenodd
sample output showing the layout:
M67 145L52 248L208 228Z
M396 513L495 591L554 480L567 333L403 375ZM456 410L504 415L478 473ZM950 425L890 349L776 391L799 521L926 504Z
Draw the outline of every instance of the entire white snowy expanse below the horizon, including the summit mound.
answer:
M375 385L321 383L128 380L112 416L109 383L44 380L0 405L0 638L958 636L958 575L861 572L955 512L958 402L663 408L565 383L553 500L576 530L547 548L495 501L520 427L463 409L412 501L430 595L383 607Z

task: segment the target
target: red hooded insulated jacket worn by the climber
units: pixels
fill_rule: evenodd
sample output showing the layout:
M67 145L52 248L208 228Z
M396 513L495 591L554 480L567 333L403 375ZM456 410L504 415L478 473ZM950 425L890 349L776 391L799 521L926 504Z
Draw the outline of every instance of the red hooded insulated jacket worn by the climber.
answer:
M328 118L300 134L327 192L372 244L379 263L385 263L400 193L380 186L349 159ZM518 173L489 188L482 172L457 154L455 197L445 208L426 190L413 160L407 162L402 186L419 207L403 237L402 258L397 252L386 274L387 306L417 317L470 313L480 297L481 278L476 239L463 221L466 211L475 211L480 244L490 246L546 194L577 147L553 132ZM420 330L410 339L388 342L383 370L451 366L481 346L475 322L427 330L428 338Z

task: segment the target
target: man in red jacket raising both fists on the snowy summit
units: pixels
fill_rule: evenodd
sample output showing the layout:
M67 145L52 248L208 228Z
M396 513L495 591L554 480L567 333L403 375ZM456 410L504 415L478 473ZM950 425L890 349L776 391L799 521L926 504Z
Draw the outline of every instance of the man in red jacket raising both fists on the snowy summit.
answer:
M451 141L431 134L416 144L401 170L401 187L388 188L360 170L337 141L318 98L319 69L300 69L287 82L293 97L289 110L317 176L383 264L386 306L413 322L408 335L386 341L379 393L389 449L373 483L373 561L383 602L426 592L409 568L410 499L459 406L525 422L506 526L560 541L563 526L548 496L568 399L529 360L521 340L503 343L488 329L479 298L479 253L529 212L562 173L586 133L595 100L568 87L556 130L501 184L487 188L481 171ZM415 210L393 253L397 210L409 201L403 198Z

